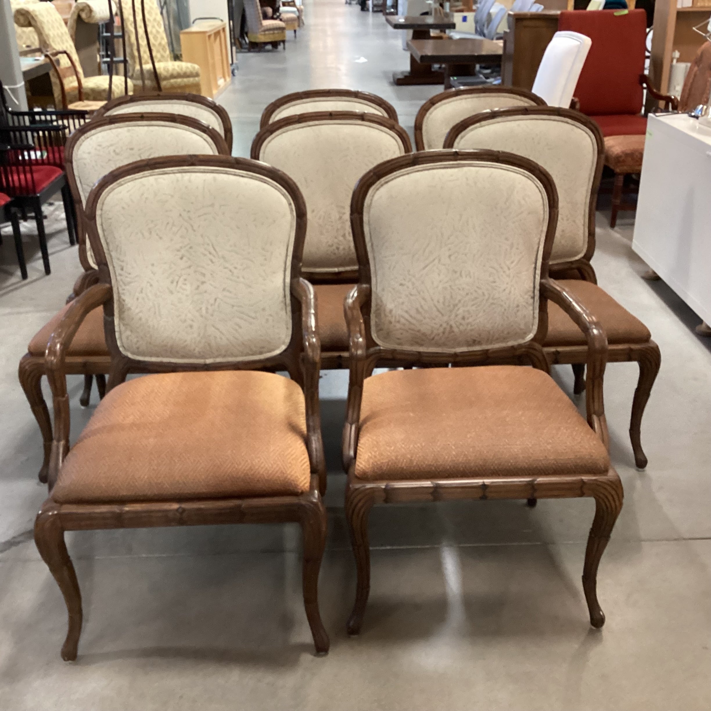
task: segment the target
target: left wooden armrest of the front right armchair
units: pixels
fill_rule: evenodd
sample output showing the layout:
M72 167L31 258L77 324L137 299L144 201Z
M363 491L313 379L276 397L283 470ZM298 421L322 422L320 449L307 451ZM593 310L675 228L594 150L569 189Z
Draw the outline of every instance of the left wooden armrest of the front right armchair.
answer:
M348 326L348 351L351 373L348 378L348 402L346 422L343 425L343 469L348 471L355 460L358 449L358 426L360 424L360 403L363 400L363 380L365 380L365 322L362 307L370 299L367 284L355 284L343 303L343 314Z

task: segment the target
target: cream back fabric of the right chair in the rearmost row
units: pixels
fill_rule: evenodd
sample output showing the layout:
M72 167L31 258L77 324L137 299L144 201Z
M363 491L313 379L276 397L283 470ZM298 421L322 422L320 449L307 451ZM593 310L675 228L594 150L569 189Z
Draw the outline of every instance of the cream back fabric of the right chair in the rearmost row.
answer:
M454 95L435 104L422 122L422 140L424 149L440 149L449 129L461 120L487 109L510 109L515 106L535 106L535 102L523 96L509 94L506 90L499 93Z

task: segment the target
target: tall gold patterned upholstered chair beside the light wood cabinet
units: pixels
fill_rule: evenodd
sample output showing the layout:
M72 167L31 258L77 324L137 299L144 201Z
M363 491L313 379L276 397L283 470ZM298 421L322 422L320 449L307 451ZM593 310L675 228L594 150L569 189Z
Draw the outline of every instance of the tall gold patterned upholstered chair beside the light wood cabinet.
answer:
M173 61L161 11L156 0L115 0L123 9L124 36L126 38L129 75L134 82L134 92L187 92L200 93L200 67L191 62ZM136 23L134 23L134 9ZM141 10L145 10L144 27ZM138 31L137 27L138 26ZM152 55L151 55L152 53ZM154 63L158 82L154 73Z

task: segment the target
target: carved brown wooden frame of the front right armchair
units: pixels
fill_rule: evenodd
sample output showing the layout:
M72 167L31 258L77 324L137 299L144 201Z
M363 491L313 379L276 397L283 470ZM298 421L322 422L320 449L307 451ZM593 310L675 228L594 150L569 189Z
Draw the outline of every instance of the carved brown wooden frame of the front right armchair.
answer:
M545 188L550 205L540 277L538 331L528 343L506 348L488 348L462 353L424 353L378 346L370 329L370 262L363 229L365 198L375 183L411 166L447 164L454 161L489 161L516 166L535 176ZM355 458L358 452L360 403L363 382L378 363L398 363L406 367L422 365L466 366L483 363L532 365L548 372L548 359L542 349L547 331L547 299L552 299L585 333L587 348L587 422L607 447L608 433L603 404L603 375L606 363L607 339L597 320L560 284L548 278L548 260L557 225L557 192L550 175L540 166L513 154L501 151L426 151L386 161L361 178L353 193L351 219L353 238L360 265L358 285L346 300L346 320L351 339L351 373L348 383L348 410L343 429L343 466L348 472L346 487L346 519L351 533L353 553L358 572L358 584L353 612L348 620L348 633L358 634L363 622L370 591L370 547L368 544L368 513L375 503L407 501L453 501L476 499L567 498L591 496L596 510L589 533L583 569L583 589L594 627L602 627L605 616L597 600L597 569L611 530L622 506L623 491L619 476L610 467L606 474L570 476L525 476L482 479L437 479L364 481L355 478ZM506 220L502 218L502 230Z

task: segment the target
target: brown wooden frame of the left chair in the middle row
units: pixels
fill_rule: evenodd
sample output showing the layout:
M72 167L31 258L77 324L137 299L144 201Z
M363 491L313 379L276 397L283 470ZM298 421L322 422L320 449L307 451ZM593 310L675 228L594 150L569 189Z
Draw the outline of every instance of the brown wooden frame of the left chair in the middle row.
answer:
M131 123L137 120L159 120L162 122L181 124L193 129L199 129L210 137L210 139L215 143L215 146L218 146L218 150L220 150L221 153L226 156L230 154L228 146L225 144L225 140L220 136L220 134L218 134L217 131L215 131L215 129L208 127L203 124L203 122L196 119L186 116L176 116L175 114L118 114L117 116L100 118L94 117L90 122L83 124L75 132L73 132L65 146L64 158L67 182L69 184L71 198L74 201L75 215L77 218L76 232L77 240L79 242L79 260L84 268L84 272L82 272L80 277L77 279L70 299L73 299L74 296L79 296L82 292L91 287L92 284L97 284L100 281L99 272L97 269L92 267L87 259L87 235L85 228L87 218L74 173L73 160L75 146L77 141L82 136L92 132L95 129L105 127L109 124ZM67 355L65 356L63 367L65 369L65 373L68 375L84 376L84 390L80 397L80 404L83 407L86 407L89 404L92 379L94 377L96 377L99 397L104 397L106 390L105 376L111 372L111 357L108 351L106 355ZM30 403L33 415L37 420L40 432L42 433L44 458L38 477L42 483L46 483L48 481L50 452L52 449L52 421L50 419L47 403L45 402L44 395L42 394L41 380L43 375L48 375L46 358L41 355L32 355L31 353L23 355L18 368L18 378L25 396Z

